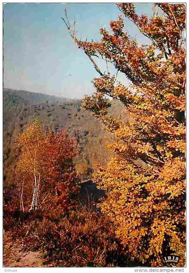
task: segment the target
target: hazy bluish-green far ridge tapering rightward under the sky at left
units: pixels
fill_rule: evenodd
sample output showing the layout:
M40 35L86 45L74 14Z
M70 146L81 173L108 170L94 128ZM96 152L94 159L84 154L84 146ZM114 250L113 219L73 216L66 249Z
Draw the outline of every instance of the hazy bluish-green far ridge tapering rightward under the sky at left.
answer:
M42 93L29 92L24 90L14 90L3 88L3 105L4 107L19 108L27 104L41 104L41 103L57 103L65 102L67 98L51 96Z

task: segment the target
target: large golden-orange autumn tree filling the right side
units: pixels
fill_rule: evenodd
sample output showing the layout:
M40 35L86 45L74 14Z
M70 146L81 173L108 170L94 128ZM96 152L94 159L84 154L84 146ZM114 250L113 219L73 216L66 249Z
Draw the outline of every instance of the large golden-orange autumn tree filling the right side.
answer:
M94 180L107 191L99 205L114 222L116 236L131 259L162 266L162 256L177 254L185 264L185 30L184 4L157 3L153 15L138 16L132 3L116 4L151 41L140 45L124 30L124 20L101 28L98 42L80 41L65 12L64 22L77 46L99 73L96 93L83 108L119 138L108 146L119 158L96 164ZM96 57L112 64L131 85L102 72ZM95 59L96 58L96 59ZM98 59L97 59L98 60ZM107 112L108 95L121 101L129 119ZM146 167L139 167L138 159Z

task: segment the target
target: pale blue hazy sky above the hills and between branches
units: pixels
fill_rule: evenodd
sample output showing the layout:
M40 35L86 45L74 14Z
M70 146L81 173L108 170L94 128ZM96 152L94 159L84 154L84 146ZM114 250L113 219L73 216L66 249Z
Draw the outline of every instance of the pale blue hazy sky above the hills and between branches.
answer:
M109 29L121 14L113 3L4 5L4 87L67 98L94 92L91 80L99 75L70 37L61 19L65 7L70 23L76 20L77 37L90 41L98 40L99 29ZM136 11L151 15L152 3L137 3ZM132 22L125 22L131 36L149 43ZM121 73L118 80L129 84Z

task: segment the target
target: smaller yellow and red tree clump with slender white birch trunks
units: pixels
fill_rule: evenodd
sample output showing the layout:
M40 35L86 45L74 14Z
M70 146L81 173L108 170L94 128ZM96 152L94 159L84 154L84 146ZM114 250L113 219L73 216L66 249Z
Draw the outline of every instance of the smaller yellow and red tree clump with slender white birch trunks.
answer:
M18 135L16 144L21 154L15 168L21 211L24 203L29 211L48 210L52 199L56 208L71 207L71 195L78 190L73 139L63 131L45 133L34 120Z

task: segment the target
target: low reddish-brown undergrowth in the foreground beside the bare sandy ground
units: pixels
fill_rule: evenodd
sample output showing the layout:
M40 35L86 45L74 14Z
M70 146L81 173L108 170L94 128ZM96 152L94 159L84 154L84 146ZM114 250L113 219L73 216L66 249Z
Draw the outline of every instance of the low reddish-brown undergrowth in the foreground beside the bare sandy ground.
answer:
M53 216L35 218L26 221L24 227L15 228L27 248L41 250L45 264L63 267L128 264L113 225L99 212L77 208L67 217Z

